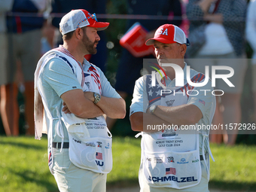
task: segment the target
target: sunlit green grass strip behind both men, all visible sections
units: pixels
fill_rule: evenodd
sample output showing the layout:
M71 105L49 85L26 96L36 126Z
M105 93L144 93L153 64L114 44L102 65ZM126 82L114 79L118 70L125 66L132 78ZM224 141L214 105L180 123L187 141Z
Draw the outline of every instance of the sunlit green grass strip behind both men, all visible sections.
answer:
M47 139L0 136L0 192L56 192L56 182L47 166ZM256 191L256 147L211 145L210 188ZM113 169L108 187L138 184L140 139L113 139Z

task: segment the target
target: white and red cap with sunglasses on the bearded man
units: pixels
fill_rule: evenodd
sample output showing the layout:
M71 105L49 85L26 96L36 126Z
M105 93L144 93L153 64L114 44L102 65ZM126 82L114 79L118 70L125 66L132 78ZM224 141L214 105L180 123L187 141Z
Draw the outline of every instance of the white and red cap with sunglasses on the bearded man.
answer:
M72 10L68 14L62 17L59 28L62 35L68 32L75 31L78 27L84 26L96 27L98 31L102 31L108 28L109 23L98 22L96 14L90 14L84 9Z

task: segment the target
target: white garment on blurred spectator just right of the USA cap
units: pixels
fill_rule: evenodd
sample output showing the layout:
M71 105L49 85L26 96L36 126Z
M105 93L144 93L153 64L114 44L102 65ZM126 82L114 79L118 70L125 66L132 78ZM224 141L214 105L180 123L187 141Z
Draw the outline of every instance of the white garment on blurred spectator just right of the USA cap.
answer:
M227 38L223 25L209 23L205 33L206 44L200 49L199 55L223 55L233 52L233 46Z

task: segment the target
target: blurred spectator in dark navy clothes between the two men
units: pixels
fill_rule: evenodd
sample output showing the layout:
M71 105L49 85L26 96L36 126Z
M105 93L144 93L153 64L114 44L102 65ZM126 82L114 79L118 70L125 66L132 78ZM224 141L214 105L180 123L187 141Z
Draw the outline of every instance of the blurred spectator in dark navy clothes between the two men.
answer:
M163 0L163 1L145 1L145 0L129 0L128 2L128 14L134 15L149 15L149 16L169 16L181 17L181 2L179 0ZM130 29L134 23L139 22L145 29L148 29L148 35L145 37L145 41L148 38L154 37L156 29L165 24L171 23L175 26L179 26L182 20L128 20L126 30ZM117 69L115 89L126 99L126 96L133 95L133 87L136 80L141 76L141 70L143 68L143 59L154 58L153 55L144 57L135 57L128 50L123 49L120 62ZM111 129L114 126L116 120L107 119L108 128Z

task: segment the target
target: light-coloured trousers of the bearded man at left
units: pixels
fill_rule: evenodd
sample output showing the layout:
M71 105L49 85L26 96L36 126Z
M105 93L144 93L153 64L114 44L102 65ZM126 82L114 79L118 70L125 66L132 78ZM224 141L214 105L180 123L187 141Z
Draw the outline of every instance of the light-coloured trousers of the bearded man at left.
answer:
M53 148L53 172L60 192L105 192L107 174L80 169L69 160L69 149Z

